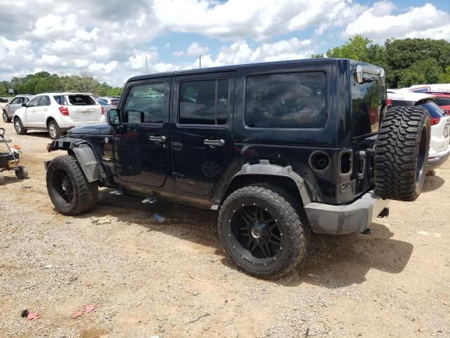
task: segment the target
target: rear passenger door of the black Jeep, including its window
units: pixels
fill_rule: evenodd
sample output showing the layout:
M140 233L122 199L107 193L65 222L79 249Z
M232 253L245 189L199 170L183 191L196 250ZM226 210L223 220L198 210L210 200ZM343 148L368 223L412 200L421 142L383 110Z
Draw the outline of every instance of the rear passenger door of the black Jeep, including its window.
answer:
M174 78L172 176L182 192L210 194L233 150L234 73Z

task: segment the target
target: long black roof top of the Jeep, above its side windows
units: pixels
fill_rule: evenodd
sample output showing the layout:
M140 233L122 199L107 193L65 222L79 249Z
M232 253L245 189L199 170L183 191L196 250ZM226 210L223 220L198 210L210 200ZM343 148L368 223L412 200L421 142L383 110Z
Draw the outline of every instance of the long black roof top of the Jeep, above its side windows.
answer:
M146 80L148 78L154 77L169 77L174 75L193 75L193 74L207 74L207 73L219 73L219 72L231 72L234 70L245 70L254 68L276 68L278 66L299 66L299 65L318 65L318 64L332 64L349 61L351 67L356 67L356 65L368 66L370 68L375 68L378 71L383 70L376 65L371 65L370 63L365 63L362 61L355 61L349 58L304 58L301 60L288 60L288 61L273 61L273 62L262 62L262 63L248 63L243 65L224 65L221 67L212 68L194 68L189 70L176 70L174 72L165 73L152 73L146 75L136 75L130 77L128 81Z

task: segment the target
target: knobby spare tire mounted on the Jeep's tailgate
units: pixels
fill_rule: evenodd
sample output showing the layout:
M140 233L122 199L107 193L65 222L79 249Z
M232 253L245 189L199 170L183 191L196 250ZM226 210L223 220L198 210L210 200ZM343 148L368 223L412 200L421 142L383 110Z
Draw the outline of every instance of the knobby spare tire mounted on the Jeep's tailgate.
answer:
M375 146L375 187L383 199L415 201L422 191L430 149L430 117L423 107L392 107Z

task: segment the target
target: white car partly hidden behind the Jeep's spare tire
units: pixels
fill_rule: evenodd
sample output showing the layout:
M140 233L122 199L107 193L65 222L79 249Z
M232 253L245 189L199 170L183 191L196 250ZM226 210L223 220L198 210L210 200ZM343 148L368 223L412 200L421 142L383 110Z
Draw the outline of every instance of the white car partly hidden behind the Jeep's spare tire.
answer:
M427 170L439 168L450 156L450 117L435 103L436 96L425 93L387 91L387 98L395 106L421 106L430 114L431 139Z

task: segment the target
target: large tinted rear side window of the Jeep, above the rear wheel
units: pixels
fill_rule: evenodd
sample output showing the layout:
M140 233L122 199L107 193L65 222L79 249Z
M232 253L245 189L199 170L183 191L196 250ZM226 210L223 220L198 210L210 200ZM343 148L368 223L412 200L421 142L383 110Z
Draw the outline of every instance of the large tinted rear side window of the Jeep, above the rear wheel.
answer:
M321 128L326 122L325 73L253 75L245 89L245 124Z

